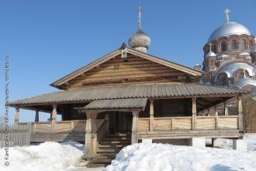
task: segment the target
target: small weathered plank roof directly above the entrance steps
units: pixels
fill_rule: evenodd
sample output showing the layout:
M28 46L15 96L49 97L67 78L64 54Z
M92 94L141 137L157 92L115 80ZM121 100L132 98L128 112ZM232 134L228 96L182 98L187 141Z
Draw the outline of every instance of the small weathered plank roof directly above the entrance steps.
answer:
M144 110L147 104L147 98L126 98L92 101L84 109L126 109L141 108Z

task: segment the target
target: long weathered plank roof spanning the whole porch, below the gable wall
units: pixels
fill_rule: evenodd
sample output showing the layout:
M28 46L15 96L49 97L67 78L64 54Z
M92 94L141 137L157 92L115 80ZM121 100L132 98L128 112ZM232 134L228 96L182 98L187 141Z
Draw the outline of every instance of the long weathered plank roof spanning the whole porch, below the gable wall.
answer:
M9 105L52 104L143 97L236 96L250 91L203 84L140 84L116 87L91 87L74 91L57 91L12 101Z

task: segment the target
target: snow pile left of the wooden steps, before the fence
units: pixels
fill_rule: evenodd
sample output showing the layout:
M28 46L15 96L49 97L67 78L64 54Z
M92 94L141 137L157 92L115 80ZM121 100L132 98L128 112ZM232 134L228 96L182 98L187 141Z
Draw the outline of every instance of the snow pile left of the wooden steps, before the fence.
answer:
M83 145L78 142L44 142L40 145L9 149L9 166L4 166L5 151L0 149L0 170L61 171L81 159Z

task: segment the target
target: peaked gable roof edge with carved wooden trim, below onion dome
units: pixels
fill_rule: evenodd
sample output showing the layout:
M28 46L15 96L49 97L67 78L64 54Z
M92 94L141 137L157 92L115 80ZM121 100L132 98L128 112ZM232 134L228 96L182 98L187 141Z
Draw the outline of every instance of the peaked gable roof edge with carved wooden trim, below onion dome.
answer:
M59 87L59 86L61 86L61 84L64 84L69 80L72 80L74 77L78 77L79 75L87 72L88 70L92 70L93 68L99 66L100 64L105 63L106 61L111 60L112 58L120 55L122 53L123 48L126 48L127 53L130 53L134 56L139 56L141 58L144 58L145 60L150 60L154 63L159 63L166 67L170 67L172 69L182 71L185 74L189 74L192 76L202 76L202 74L203 74L203 72L200 70L195 70L190 67L186 67L182 64L174 63L169 60L164 60L160 57L150 55L148 53L143 53L138 50L134 50L130 47L122 46L122 48L119 48L118 50L114 50L114 51L112 51L112 53L109 53L106 56L102 56L102 58L99 58L98 60L95 60L94 62L89 63L88 65L85 65L84 67L81 67L78 70L75 70L71 74L67 74L64 77L61 77L61 79L54 81L54 83L50 84L50 86Z

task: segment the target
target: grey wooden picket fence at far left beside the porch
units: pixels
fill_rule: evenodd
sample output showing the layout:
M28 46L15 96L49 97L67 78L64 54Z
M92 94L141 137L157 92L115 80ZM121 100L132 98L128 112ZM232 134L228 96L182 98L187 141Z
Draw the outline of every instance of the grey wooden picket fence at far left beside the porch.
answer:
M5 125L0 125L0 148L30 144L31 124L9 125L5 131Z

